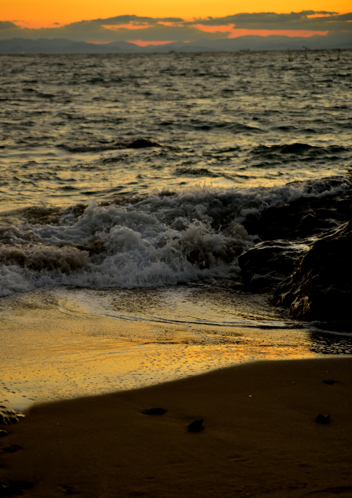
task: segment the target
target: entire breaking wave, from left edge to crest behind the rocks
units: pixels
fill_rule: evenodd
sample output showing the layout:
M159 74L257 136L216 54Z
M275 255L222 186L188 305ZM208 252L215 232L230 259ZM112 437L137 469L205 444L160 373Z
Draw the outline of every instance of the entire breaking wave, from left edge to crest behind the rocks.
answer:
M43 286L160 287L237 278L238 256L260 242L247 220L273 206L346 192L352 192L349 175L245 191L154 191L59 212L27 208L22 223L0 228L0 295Z

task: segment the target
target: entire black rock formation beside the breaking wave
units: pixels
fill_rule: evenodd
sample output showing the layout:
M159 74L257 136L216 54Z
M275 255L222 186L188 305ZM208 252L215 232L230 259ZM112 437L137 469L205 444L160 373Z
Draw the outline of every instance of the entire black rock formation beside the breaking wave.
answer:
M309 180L304 196L248 213L245 229L264 242L239 257L247 288L276 287L274 303L294 317L352 322L351 187L350 174Z

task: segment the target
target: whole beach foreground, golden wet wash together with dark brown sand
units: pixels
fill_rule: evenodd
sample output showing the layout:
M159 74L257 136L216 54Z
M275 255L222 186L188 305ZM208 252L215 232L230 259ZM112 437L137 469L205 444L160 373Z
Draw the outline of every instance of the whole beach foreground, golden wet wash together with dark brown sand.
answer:
M1 303L0 401L26 417L0 427L0 497L352 496L352 358L321 333Z

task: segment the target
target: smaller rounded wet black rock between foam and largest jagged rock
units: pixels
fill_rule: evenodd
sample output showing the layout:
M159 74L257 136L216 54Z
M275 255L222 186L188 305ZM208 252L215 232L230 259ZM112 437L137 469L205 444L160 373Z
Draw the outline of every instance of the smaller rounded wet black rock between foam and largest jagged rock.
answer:
M286 240L257 244L238 258L244 285L252 292L275 288L293 272L307 250L304 244Z

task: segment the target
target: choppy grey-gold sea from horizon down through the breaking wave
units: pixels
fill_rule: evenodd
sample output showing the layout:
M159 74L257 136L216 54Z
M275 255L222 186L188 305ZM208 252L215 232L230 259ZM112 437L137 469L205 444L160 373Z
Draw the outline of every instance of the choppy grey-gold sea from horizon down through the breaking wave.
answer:
M1 56L0 296L66 288L126 319L297 326L234 287L260 242L248 215L352 189L352 52L293 59ZM128 147L140 138L159 146Z

